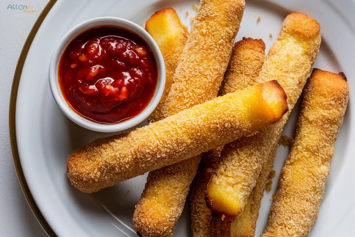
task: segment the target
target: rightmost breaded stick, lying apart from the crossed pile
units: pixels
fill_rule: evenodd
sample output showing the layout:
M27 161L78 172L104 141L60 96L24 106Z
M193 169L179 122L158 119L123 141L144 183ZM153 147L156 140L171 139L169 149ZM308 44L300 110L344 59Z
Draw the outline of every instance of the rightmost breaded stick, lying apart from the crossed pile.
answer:
M310 233L348 99L343 73L313 70L304 91L295 143L281 171L262 237L306 237Z

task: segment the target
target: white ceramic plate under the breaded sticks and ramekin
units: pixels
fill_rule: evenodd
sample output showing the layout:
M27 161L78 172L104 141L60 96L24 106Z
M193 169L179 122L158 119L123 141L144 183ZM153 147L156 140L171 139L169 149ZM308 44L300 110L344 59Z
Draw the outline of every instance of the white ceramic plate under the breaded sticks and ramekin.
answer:
M192 4L198 4L198 1L62 0L56 2L45 16L23 65L17 91L16 136L28 187L39 210L58 236L136 236L132 215L146 175L95 194L84 194L72 187L66 176L66 157L94 138L108 134L79 127L67 119L54 102L48 83L48 68L56 44L70 28L89 18L115 16L141 25L155 11L168 6L174 7L183 23L190 26L190 17L196 13ZM236 40L242 37L263 38L268 50L277 38L285 16L293 11L303 12L321 24L322 46L315 67L343 71L348 77L350 102L311 237L354 236L353 226L341 225L345 220L351 223L349 218L354 220L355 205L355 129L352 125L355 122L355 97L352 95L355 80L354 5L352 0L337 1L336 4L331 0L247 0L241 29L236 37ZM189 11L189 16L185 16L186 11ZM257 22L258 16L261 17L260 22ZM273 37L269 37L269 33ZM17 89L16 83L13 90ZM298 107L291 113L284 131L286 135L293 136ZM15 119L13 114L11 116L12 120ZM288 152L289 149L279 147L274 162L277 176ZM271 206L269 199L275 192L277 178L272 191L266 193L262 201L256 236L260 235L267 221ZM175 237L192 236L188 207L189 203L179 220Z

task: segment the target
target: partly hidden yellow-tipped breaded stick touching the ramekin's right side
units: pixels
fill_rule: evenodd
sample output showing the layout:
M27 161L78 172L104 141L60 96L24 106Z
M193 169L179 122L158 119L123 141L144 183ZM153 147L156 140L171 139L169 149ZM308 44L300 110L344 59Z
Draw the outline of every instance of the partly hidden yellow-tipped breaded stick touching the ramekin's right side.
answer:
M162 111L163 104L173 83L173 75L178 64L178 58L182 49L184 49L189 32L187 31L187 27L181 23L176 11L171 7L166 7L155 12L146 22L146 31L157 42L163 54L166 70L166 81L162 98L157 108L148 117L148 123L154 123L167 117Z

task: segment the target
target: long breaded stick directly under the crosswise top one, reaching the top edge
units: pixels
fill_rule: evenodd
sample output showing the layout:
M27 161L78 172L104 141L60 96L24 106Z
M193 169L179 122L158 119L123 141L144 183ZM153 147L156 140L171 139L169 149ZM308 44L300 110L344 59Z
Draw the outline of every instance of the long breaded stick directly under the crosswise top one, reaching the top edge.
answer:
M165 115L217 96L244 5L244 0L201 0L162 109ZM149 173L133 215L143 237L172 235L200 160L199 155Z

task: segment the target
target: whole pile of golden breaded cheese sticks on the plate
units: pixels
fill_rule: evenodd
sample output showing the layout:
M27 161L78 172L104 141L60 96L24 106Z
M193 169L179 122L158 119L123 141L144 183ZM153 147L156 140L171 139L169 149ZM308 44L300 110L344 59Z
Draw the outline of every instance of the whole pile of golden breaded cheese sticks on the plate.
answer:
M149 172L133 215L139 236L172 236L189 189L194 237L255 236L278 141L321 35L317 21L295 12L267 55L261 39L234 44L244 6L201 0L190 33L172 8L152 15L146 30L163 54L166 85L149 125L68 157L68 177L86 193ZM307 236L324 193L349 87L344 74L313 70L304 94L263 237Z

